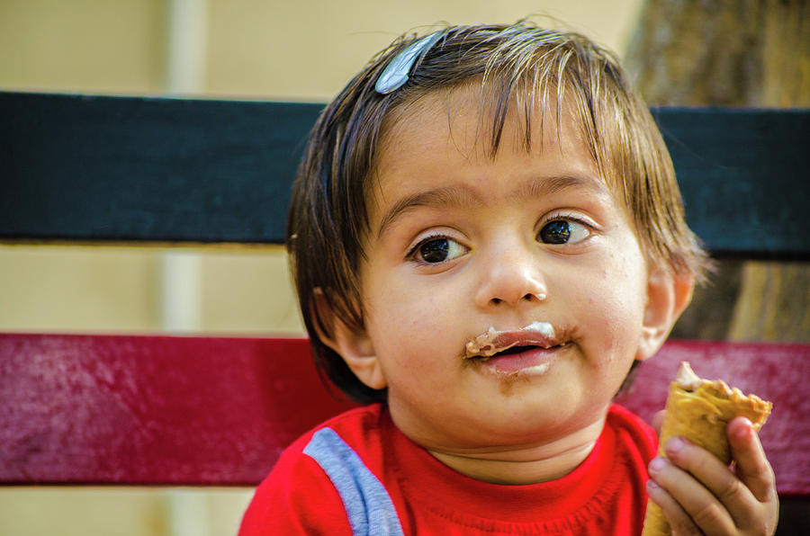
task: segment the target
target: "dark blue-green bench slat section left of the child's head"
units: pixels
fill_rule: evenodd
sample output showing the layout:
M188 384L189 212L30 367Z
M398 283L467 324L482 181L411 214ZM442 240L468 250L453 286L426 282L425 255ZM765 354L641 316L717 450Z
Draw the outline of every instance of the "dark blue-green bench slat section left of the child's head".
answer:
M0 237L281 242L321 108L0 94Z

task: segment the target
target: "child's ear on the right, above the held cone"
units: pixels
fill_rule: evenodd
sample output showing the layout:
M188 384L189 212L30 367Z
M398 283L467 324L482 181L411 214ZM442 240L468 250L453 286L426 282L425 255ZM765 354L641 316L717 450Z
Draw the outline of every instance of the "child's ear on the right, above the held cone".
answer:
M644 361L658 352L680 313L692 300L695 279L691 275L671 273L661 267L653 268L647 281L647 306L644 326L635 359Z

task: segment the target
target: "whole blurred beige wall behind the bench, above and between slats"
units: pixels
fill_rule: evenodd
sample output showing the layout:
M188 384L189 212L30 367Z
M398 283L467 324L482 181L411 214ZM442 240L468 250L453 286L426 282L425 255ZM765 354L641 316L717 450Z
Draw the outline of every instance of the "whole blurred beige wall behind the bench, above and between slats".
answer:
M187 93L325 101L378 49L421 24L551 15L625 48L641 0L185 0L202 17L202 84ZM175 0L175 5L184 0ZM0 88L112 94L167 91L169 0L0 0ZM0 330L154 332L167 299L197 304L194 331L301 331L284 255L203 250L166 296L166 251L0 246ZM174 266L174 268L172 268ZM168 292L171 294L172 292ZM182 305L182 304L181 304ZM181 322L182 323L182 322ZM250 490L0 490L0 534L231 534Z

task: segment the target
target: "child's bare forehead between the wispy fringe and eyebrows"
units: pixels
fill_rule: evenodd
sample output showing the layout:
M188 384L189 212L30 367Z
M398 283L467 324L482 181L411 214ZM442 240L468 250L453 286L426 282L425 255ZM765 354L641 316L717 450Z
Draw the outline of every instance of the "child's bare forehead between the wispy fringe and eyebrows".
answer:
M533 140L527 147L525 125L519 125L519 117L512 113L492 156L486 131L491 130L491 119L482 118L469 94L458 97L430 95L392 124L366 197L372 214L379 216L387 205L422 200L426 192L430 193L425 199L471 207L480 203L462 201L501 196L519 204L536 200L539 192L555 192L563 184L566 188L579 184L582 192L612 197L588 145L570 121L563 119L558 128L557 121L541 124L534 118Z

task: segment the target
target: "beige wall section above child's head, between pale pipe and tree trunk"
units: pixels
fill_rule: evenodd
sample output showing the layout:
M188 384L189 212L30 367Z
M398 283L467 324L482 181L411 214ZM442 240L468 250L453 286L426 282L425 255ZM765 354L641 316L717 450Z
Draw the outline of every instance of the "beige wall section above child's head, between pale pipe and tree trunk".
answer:
M639 0L211 0L206 90L222 95L331 98L402 32L450 22L554 17L624 49Z

